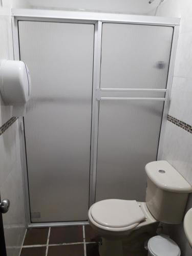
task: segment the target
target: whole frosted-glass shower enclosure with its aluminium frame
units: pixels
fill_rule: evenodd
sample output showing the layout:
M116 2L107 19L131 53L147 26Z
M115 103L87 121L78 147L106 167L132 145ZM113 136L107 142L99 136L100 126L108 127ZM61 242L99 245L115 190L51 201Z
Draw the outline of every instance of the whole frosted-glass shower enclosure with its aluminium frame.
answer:
M108 198L144 201L144 166L162 150L179 19L12 13L15 59L32 78L30 222L86 221L89 206Z

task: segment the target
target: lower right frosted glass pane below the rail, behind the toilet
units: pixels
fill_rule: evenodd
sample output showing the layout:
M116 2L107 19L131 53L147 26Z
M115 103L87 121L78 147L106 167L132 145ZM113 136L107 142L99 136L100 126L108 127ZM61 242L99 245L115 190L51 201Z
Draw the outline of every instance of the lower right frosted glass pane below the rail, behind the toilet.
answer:
M145 200L146 163L156 160L161 101L101 101L96 201Z

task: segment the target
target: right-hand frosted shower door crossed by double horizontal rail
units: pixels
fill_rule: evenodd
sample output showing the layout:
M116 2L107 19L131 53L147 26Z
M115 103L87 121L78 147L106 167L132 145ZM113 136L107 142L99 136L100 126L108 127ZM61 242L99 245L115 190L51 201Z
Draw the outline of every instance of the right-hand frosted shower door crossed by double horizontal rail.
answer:
M145 200L144 166L157 158L172 37L172 27L102 25L96 201Z

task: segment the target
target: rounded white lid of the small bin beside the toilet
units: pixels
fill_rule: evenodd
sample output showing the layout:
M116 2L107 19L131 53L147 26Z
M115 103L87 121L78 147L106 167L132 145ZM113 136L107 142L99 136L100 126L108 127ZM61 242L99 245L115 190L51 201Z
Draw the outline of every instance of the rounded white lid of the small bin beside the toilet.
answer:
M180 256L179 246L170 238L155 236L148 240L148 250L154 256Z

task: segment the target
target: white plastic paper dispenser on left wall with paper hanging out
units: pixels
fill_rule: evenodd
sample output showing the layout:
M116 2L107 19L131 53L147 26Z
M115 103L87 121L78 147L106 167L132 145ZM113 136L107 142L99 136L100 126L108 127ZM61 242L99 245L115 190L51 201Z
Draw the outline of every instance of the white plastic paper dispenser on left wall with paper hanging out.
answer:
M12 116L23 116L31 93L30 73L23 61L0 61L0 92L5 105L13 106Z

